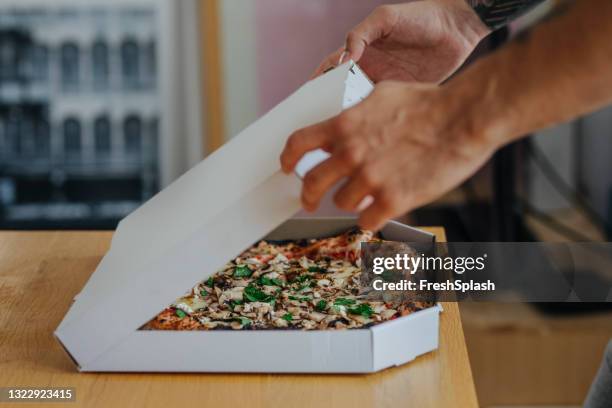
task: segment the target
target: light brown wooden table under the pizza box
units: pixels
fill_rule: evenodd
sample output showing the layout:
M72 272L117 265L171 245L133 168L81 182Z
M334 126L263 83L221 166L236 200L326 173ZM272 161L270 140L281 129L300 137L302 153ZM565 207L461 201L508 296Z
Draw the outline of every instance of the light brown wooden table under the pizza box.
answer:
M377 374L78 373L53 331L111 235L0 232L0 387L75 388L76 404L53 407L477 406L455 303L443 304L439 350Z

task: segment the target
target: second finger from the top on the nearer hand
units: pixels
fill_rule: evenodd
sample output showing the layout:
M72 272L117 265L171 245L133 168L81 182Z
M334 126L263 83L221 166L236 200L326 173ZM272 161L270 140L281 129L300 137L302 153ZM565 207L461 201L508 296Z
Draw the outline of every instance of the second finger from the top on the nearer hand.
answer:
M334 152L324 162L310 170L304 177L302 204L307 211L314 211L321 198L341 178L348 176L359 163L359 153L355 150Z

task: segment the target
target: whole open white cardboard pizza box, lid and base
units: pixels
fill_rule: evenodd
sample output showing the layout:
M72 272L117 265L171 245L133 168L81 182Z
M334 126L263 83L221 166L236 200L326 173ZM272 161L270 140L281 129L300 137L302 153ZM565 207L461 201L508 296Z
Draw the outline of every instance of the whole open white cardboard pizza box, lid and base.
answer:
M365 373L438 345L438 306L367 329L144 331L153 316L262 237L311 238L354 218L293 218L301 177L280 171L289 134L358 103L372 85L353 63L306 83L118 225L111 246L55 331L81 371ZM391 240L434 237L398 222ZM299 350L299 353L295 353ZM285 356L291 352L291 360Z

